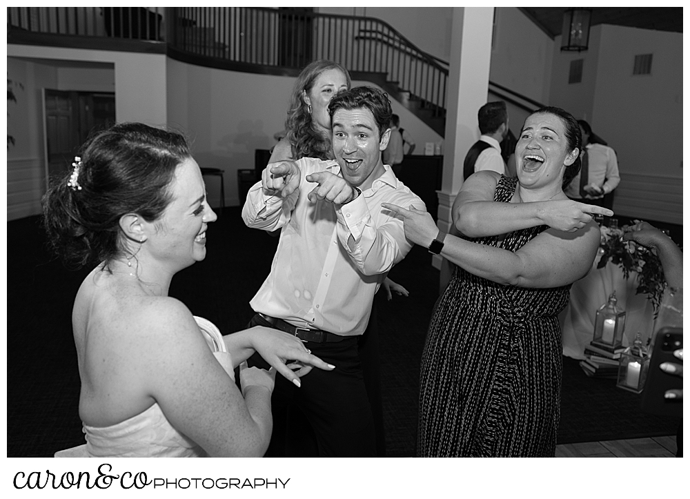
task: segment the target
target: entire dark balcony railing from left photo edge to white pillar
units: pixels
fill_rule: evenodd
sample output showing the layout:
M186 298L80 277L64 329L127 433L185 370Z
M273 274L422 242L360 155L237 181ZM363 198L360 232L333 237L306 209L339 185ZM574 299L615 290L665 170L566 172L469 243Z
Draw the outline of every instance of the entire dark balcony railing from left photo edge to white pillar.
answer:
M296 74L331 59L355 78L375 77L404 104L445 115L447 68L378 19L248 7L8 8L9 43L46 43L46 35L60 43L89 37L106 50L117 50L108 39L166 42L159 50L170 57L256 72Z

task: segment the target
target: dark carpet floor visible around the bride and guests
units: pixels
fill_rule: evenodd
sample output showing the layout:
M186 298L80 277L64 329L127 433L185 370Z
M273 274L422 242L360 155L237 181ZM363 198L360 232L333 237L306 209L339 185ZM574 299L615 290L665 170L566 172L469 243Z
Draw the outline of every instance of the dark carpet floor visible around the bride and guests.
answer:
M224 333L243 329L248 304L270 269L277 239L242 224L226 208L208 231L204 262L175 276L170 295ZM83 442L72 302L83 271L68 271L45 248L39 217L8 222L7 456L49 457ZM417 394L426 326L438 272L415 247L391 271L409 297L376 297L386 456L415 454ZM559 443L675 435L678 420L638 410L638 396L613 380L587 378L564 359Z

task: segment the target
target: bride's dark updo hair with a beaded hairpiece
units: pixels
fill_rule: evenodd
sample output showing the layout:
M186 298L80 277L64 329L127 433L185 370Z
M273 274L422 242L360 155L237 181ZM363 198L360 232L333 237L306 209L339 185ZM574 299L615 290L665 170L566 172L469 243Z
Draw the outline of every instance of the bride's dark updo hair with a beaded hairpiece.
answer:
M175 169L190 157L182 135L141 123L95 133L43 196L50 245L77 268L117 257L124 237L120 217L136 213L157 220L172 201Z

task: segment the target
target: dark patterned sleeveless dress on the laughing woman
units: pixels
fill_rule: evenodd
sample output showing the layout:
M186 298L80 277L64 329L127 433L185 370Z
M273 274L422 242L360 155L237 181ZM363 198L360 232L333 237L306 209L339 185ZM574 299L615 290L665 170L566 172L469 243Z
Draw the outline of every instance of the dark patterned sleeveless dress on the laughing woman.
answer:
M516 178L494 196L509 202ZM546 226L473 242L517 251ZM554 456L560 418L558 313L570 285L496 284L460 267L439 298L422 354L420 457Z

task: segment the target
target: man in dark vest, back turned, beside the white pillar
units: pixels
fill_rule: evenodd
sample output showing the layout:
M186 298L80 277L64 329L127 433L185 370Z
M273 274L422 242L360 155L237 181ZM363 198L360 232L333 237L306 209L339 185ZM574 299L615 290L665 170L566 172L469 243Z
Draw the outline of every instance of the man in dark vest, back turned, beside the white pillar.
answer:
M487 102L477 112L482 136L467 151L463 176L481 170L493 170L506 175L506 164L501 156L501 141L508 135L508 110L504 101Z

